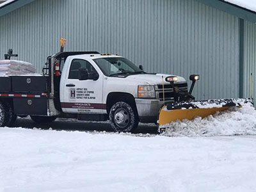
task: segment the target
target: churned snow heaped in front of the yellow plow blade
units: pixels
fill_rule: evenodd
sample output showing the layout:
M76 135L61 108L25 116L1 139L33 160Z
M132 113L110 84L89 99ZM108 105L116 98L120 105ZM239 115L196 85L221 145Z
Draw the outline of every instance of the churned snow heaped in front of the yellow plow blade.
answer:
M165 136L232 136L256 134L256 111L252 104L231 108L204 119L172 122Z

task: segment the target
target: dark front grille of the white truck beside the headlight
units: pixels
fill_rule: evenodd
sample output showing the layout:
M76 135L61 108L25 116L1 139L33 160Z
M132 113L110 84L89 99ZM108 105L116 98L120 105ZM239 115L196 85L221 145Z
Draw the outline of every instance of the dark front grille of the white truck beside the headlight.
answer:
M188 83L176 83L174 87L179 88L180 91L188 92ZM156 98L159 100L174 100L174 91L171 84L164 84L164 93L163 93L163 85L157 84L156 87Z

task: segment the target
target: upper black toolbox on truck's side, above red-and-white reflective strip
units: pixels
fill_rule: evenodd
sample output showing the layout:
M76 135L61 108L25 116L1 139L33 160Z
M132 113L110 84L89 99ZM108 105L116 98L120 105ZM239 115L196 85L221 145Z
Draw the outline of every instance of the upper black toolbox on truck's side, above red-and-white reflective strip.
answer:
M47 77L11 76L13 92L47 92Z

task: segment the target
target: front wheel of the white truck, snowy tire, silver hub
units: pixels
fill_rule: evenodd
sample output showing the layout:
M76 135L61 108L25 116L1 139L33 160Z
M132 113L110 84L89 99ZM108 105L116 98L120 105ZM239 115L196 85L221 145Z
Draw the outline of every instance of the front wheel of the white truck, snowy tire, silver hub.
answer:
M110 109L109 120L116 132L131 132L138 127L138 115L126 102L116 102Z

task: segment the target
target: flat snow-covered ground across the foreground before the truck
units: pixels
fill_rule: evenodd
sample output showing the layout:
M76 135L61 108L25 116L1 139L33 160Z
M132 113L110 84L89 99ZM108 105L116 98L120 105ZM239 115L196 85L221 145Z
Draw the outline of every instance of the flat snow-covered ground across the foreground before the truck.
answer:
M0 129L0 191L255 191L256 136Z

